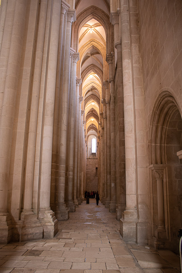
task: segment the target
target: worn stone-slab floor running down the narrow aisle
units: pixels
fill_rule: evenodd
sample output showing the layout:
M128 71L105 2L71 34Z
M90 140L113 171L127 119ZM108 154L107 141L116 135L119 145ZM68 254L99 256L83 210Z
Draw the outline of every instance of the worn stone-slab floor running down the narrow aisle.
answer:
M0 245L3 273L179 273L179 257L168 250L127 245L119 222L102 203L84 201L54 239ZM109 270L109 271L108 271Z

